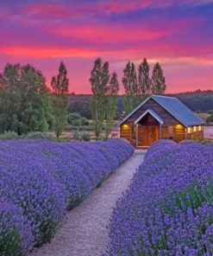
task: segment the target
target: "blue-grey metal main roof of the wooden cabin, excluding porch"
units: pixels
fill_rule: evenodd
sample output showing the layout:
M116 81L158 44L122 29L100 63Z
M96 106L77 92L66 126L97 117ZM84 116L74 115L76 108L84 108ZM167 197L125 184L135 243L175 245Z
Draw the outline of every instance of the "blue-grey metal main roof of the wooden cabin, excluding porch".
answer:
M124 118L119 125L122 125L131 115L133 115L141 106L143 106L149 99L153 99L160 106L166 109L167 112L171 113L172 116L179 120L183 125L204 125L204 120L199 118L197 114L192 112L187 106L185 106L179 99L160 95L151 95L145 99L139 106L137 106L132 112Z

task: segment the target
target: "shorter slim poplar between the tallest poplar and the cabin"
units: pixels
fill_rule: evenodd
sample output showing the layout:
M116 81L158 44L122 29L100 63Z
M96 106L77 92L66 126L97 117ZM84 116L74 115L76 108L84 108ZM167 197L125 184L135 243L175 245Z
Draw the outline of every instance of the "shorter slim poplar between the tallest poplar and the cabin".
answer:
M108 86L108 94L106 96L106 110L105 110L105 139L109 138L111 126L113 125L113 119L116 116L117 109L117 93L119 90L119 84L117 80L117 74L113 73L110 79L110 85Z

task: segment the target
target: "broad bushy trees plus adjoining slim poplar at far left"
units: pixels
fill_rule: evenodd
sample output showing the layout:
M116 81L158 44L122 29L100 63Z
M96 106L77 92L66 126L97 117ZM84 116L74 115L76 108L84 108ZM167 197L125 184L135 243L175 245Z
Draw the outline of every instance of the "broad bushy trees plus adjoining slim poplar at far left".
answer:
M66 66L61 62L50 90L41 71L32 65L8 63L0 74L0 133L16 131L22 135L53 128L59 138L69 106L66 76Z

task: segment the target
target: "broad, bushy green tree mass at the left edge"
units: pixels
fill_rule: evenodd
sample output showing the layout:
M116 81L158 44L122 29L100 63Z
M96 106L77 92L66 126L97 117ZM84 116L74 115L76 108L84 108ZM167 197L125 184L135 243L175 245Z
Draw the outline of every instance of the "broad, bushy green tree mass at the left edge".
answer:
M46 79L31 65L7 64L0 74L0 132L47 131L51 125Z

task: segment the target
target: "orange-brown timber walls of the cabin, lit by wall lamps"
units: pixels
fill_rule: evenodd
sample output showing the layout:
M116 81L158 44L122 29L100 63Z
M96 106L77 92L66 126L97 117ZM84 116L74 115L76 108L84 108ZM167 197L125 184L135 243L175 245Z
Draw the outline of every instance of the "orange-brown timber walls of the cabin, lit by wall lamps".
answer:
M140 118L147 109L152 109L164 120L164 124L161 125L161 138L170 138L177 143L184 139L204 139L204 128L202 128L202 131L198 131L197 126L197 131L193 131L193 129L191 129L191 133L188 133L187 128L180 124L179 120L174 118L172 114L167 112L153 99L149 99L143 106L141 106L141 108L130 116L124 124L121 125L120 137L128 139L133 146L136 146L136 138L131 138L131 126L135 126L135 120ZM153 118L152 115L147 113L147 115L139 121L137 131L138 146L148 146L153 142L153 140L158 140L160 138L160 123Z

